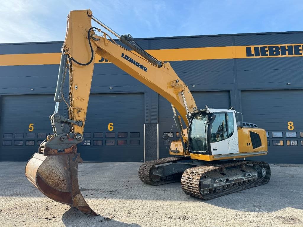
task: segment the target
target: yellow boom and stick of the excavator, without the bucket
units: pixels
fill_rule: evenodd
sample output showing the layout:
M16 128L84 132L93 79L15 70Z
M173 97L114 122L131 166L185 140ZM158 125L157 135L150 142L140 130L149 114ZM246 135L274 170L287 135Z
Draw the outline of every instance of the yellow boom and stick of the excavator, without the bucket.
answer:
M129 40L132 39L130 35L120 36L104 25L114 32L120 41L132 48L132 51L123 48L112 39L108 40L105 32L92 28L92 18L100 25L104 25L92 16L90 10L70 12L67 35L63 44L63 54L68 54L72 60L70 119L83 122L83 126L73 124L75 132L83 133L94 67L94 64L90 63L95 62L96 54L166 98L178 110L187 124L186 114L196 110L197 107L188 87L178 77L171 65L168 62L158 61L139 48L134 41ZM103 33L103 36L95 35L95 31ZM77 64L77 62L82 64Z

